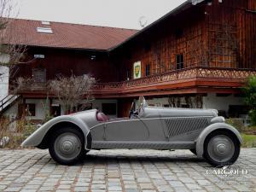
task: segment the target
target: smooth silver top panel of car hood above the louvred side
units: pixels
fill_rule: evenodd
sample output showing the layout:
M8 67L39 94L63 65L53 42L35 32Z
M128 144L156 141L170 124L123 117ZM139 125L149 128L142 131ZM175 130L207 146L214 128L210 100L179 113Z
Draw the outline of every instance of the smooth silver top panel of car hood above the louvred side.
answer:
M143 108L143 112L139 114L140 118L156 118L156 117L195 117L195 116L218 116L216 109L195 109L195 108Z

